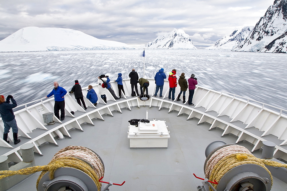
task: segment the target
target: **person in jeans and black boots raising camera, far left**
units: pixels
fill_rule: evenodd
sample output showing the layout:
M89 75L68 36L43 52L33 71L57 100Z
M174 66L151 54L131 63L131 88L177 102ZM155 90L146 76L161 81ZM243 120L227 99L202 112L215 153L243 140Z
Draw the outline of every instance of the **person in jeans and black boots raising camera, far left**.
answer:
M10 104L10 99L12 104ZM10 128L12 128L14 144L20 143L18 139L18 126L16 123L13 108L17 107L17 103L12 95L8 95L6 100L3 95L0 95L0 114L4 123L3 140L9 143L7 140Z

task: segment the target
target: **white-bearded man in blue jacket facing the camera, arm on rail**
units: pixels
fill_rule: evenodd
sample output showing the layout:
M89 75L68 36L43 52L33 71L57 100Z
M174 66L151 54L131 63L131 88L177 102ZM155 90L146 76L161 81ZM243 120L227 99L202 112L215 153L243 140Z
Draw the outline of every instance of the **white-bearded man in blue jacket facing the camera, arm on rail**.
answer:
M54 113L55 116L60 119L59 111L61 110L61 121L65 119L65 98L64 95L67 94L67 91L59 86L57 81L54 81L54 89L49 93L46 98L51 97L54 95L55 98L55 105L54 105Z

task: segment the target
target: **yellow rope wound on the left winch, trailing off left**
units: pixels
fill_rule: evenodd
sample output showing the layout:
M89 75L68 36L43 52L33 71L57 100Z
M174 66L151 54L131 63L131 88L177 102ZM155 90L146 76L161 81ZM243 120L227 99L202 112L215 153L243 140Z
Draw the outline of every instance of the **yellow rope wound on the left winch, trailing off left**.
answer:
M83 172L85 172L86 174L88 174L96 183L98 190L101 189L101 183L99 182L99 178L96 174L96 172L84 161L79 160L77 158L74 157L61 157L61 158L57 158L55 160L52 160L49 164L44 165L44 166L32 166L32 167L28 167L28 168L24 168L21 170L2 170L0 171L0 180L2 178L8 177L8 176L13 176L15 174L32 174L35 172L39 172L42 171L42 173L40 174L40 176L38 177L37 183L36 183L36 188L38 188L38 184L40 179L42 178L42 176L50 171L49 174L49 178L50 180L54 179L54 172L55 170L57 170L58 168L61 167L71 167L71 168L76 168L78 170L82 170Z

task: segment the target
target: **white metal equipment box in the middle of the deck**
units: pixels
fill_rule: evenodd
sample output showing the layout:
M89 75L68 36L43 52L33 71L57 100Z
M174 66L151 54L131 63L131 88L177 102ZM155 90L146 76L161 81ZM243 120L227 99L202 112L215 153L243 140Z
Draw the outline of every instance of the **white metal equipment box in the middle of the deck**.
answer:
M138 127L129 125L129 148L167 148L170 138L165 121L139 122Z

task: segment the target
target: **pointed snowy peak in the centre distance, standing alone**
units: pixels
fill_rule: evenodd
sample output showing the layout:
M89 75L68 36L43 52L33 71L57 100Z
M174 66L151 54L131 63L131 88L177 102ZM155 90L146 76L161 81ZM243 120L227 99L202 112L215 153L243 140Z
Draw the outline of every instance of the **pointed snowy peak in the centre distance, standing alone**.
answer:
M147 49L197 49L191 37L181 29L173 29L170 33L158 36L154 41L144 45Z

